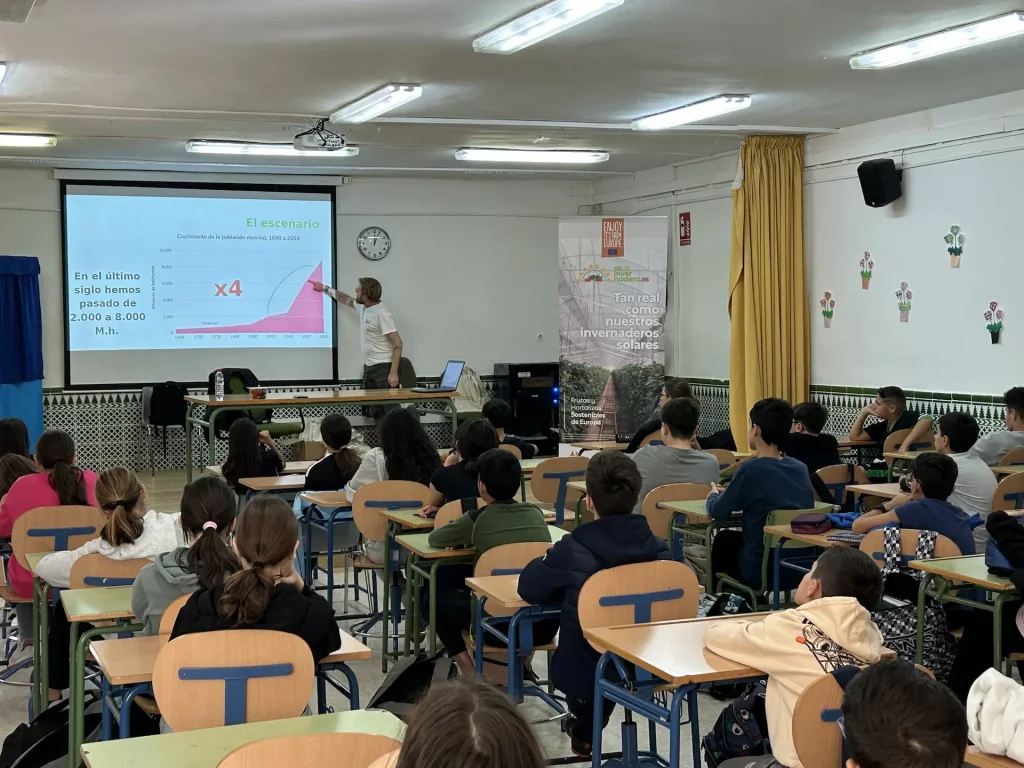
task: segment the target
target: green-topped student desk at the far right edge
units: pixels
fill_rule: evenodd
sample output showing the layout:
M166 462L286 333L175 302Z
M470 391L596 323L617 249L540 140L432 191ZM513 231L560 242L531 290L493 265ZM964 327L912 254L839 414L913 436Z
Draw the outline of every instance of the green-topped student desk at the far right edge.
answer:
M922 663L925 653L925 595L936 600L945 600L959 605L969 605L992 614L992 667L1002 671L1002 604L1009 600L1017 600L1020 593L1009 579L988 572L984 555L968 557L941 557L932 560L911 560L910 567L925 571L921 580L918 597L918 664ZM995 594L992 602L986 600L971 600L955 593L964 587L981 587L986 592ZM1014 621L1013 616L1008 617Z

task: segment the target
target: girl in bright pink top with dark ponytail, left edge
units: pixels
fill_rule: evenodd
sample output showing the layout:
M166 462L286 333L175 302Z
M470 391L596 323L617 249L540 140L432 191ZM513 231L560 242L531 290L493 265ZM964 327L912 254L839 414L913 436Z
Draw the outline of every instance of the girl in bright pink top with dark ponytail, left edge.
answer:
M9 539L14 521L37 507L95 506L96 473L75 466L75 441L51 429L36 442L36 464L42 470L15 480L0 503L0 539ZM32 573L11 558L7 580L18 597L32 597Z

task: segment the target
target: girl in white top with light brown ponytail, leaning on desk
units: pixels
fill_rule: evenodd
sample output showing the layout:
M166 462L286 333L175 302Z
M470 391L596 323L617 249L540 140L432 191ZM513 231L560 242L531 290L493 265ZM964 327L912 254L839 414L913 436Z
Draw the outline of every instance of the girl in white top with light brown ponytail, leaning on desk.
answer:
M104 470L96 480L96 503L106 522L99 538L76 550L53 552L36 566L36 573L51 587L71 586L71 568L80 557L100 554L112 560L150 559L178 546L176 515L145 509L145 487L124 467ZM68 687L71 625L58 602L49 630L50 698Z

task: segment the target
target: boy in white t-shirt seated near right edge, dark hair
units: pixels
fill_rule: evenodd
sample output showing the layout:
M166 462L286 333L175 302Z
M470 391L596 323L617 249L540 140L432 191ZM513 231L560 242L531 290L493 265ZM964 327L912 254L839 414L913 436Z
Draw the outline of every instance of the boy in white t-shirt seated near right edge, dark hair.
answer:
M970 414L945 414L939 419L935 432L935 450L956 462L956 484L947 501L969 517L980 515L985 520L992 511L996 480L989 466L974 451L978 432L978 422ZM988 541L984 525L974 529L974 541L976 551L984 552Z

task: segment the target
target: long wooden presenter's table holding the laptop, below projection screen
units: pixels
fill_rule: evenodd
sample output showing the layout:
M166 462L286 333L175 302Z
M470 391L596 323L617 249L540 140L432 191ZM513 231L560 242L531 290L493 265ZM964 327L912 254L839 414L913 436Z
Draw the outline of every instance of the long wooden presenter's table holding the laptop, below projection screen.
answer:
M211 329L212 331L212 329ZM207 464L214 463L217 446L217 435L214 430L215 417L221 411L239 411L247 409L284 408L299 412L318 406L387 406L398 402L430 402L445 403L452 417L452 434L455 434L459 421L459 412L455 408L458 392L414 392L412 389L335 389L328 392L267 392L266 397L256 399L250 394L225 394L220 397L213 394L188 395L185 397L185 475L191 482L194 458L191 431L200 427L207 432L208 459ZM200 417L200 411L203 416Z

